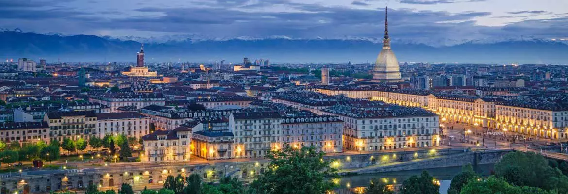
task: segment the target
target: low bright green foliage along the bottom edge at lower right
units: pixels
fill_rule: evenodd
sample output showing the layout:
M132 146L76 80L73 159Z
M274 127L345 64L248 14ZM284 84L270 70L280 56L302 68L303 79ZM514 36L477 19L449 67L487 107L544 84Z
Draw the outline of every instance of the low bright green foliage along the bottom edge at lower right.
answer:
M481 181L470 181L461 189L461 194L552 194L556 191L544 191L536 187L517 187L507 183L504 179L490 176Z

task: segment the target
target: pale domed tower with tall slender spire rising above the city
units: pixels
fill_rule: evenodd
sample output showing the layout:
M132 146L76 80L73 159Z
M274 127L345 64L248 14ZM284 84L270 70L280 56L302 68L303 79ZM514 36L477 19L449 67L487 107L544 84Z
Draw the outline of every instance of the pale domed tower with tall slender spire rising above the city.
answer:
M383 49L373 68L373 82L401 82L400 67L394 52L390 47L389 37L389 18L385 7L385 37L383 38Z

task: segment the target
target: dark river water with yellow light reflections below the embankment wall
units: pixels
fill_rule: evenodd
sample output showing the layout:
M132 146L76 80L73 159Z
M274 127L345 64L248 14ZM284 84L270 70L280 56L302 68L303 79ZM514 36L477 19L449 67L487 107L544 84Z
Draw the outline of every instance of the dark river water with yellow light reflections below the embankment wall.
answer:
M477 174L482 176L491 175L493 170L493 165L479 165L474 168ZM447 167L447 168L432 168L426 169L428 173L433 176L435 180L440 181L440 193L446 194L450 182L454 175L461 172L461 167ZM422 173L423 170L412 170L412 171L398 171L398 172L383 172L379 174L361 174L344 176L340 179L340 188L336 189L337 194L353 194L361 193L363 189L371 183L372 178L378 178L382 182L392 185L395 190L400 188L404 180L410 178L412 175L418 175Z

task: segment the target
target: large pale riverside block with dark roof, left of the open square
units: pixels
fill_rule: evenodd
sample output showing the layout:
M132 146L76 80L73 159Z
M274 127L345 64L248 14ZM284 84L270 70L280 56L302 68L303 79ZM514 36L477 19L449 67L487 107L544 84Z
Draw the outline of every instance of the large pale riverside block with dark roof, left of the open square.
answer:
M438 146L439 117L423 108L357 101L324 109L343 123L345 149L391 150Z

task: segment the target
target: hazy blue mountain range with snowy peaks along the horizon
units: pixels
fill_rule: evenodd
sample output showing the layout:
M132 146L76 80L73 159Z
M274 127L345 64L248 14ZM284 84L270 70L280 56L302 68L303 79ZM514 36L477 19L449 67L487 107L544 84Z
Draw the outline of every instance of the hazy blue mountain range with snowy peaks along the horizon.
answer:
M0 58L46 58L48 62L133 62L140 50L136 37L93 35L62 36L0 31ZM439 42L439 41L437 41ZM449 43L449 44L448 44ZM374 62L381 51L380 39L178 39L147 41L147 62L190 61L240 62L242 58L264 58L275 62ZM425 44L394 39L399 62L458 62L496 64L567 64L565 40L521 37L494 40L447 40Z

